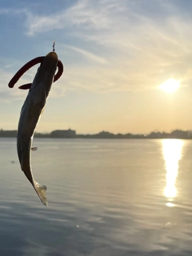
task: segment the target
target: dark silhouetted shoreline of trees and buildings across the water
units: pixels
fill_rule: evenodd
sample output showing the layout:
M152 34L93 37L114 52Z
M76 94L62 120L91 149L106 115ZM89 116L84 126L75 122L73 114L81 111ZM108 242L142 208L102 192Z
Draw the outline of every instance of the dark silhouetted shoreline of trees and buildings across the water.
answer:
M16 138L17 130L0 130L0 138ZM75 130L53 130L50 133L35 133L35 138L181 138L192 139L191 130L173 130L171 133L153 131L150 134L112 134L108 131L102 131L98 134L76 134Z

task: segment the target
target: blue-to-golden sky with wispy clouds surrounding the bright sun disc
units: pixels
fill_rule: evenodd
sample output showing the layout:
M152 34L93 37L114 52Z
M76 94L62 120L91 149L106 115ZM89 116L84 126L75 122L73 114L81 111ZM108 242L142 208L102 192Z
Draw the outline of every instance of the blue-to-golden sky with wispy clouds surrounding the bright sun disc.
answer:
M192 130L192 1L1 0L0 129L17 130L38 65L55 50L64 73L53 83L37 132L148 134ZM160 90L170 78L180 87Z

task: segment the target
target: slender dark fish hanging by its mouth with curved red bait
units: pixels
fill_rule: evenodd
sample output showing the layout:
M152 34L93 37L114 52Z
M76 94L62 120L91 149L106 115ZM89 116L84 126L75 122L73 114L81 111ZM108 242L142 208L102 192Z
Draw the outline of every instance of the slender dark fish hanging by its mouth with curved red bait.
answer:
M46 55L46 57L34 58L26 65L22 66L20 70L14 75L9 82L9 87L14 87L14 84L18 82L18 79L29 70L31 66L41 62L38 68L37 74L34 77L32 84L26 84L20 86L20 89L30 89L27 94L26 101L24 102L18 122L18 134L17 134L17 148L18 148L18 159L21 165L21 169L26 175L26 178L30 181L34 190L37 192L39 198L42 200L45 206L48 206L46 198L46 186L35 182L31 164L30 154L31 149L36 150L37 148L31 148L34 130L38 124L39 118L41 117L42 111L46 106L46 98L50 92L52 82L58 80L63 72L62 62L58 60L58 55L53 51ZM54 73L58 67L57 74Z

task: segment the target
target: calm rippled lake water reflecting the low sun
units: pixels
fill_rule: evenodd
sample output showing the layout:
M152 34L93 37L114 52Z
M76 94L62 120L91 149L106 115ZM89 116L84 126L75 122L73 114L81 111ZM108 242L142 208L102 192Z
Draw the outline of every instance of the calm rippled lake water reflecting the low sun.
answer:
M192 141L34 138L39 200L0 138L0 255L192 254Z

